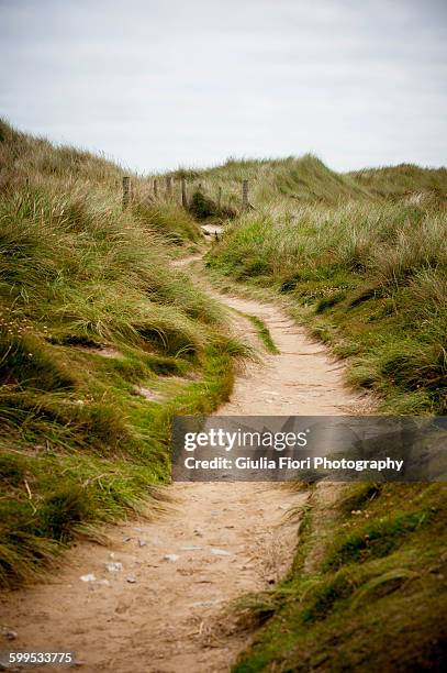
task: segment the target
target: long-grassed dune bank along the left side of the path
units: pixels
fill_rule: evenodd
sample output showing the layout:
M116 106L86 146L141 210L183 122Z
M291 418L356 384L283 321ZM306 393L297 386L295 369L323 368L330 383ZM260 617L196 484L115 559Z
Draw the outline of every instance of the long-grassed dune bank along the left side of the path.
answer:
M169 477L174 413L231 390L219 307L170 261L194 219L88 153L0 124L0 584Z

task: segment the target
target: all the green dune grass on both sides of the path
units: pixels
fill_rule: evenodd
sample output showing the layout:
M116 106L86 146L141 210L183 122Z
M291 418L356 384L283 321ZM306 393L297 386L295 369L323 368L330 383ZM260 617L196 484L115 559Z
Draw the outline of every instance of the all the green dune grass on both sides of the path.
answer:
M160 506L172 415L228 397L244 346L171 264L200 244L198 220L226 225L210 271L276 291L382 410L446 412L445 169L228 159L174 174L195 189L188 210L137 176L123 210L124 173L103 158L1 123L0 159L2 585L147 496ZM264 626L235 672L440 670L445 488L337 487L331 511L313 487L292 571L245 599Z

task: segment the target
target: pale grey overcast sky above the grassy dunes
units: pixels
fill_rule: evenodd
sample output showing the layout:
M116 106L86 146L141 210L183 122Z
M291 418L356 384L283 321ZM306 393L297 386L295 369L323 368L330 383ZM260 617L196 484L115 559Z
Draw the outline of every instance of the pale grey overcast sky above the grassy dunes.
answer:
M0 0L0 114L141 173L447 164L445 0Z

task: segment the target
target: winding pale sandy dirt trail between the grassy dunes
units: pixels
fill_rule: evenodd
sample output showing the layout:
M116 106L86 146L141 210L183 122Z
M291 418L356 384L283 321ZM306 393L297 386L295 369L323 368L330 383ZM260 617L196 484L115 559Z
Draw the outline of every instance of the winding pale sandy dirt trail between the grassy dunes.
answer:
M261 318L280 354L250 362L220 413L355 411L359 398L343 387L340 365L279 308L221 298ZM248 320L236 322L255 338ZM18 638L0 650L72 650L89 673L228 671L247 637L220 635L221 610L283 574L298 526L284 522L284 512L308 494L259 483L175 484L169 493L165 516L111 527L107 547L80 543L46 584L3 594L0 625ZM108 562L123 567L108 572ZM80 580L88 574L97 581Z

